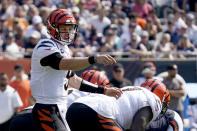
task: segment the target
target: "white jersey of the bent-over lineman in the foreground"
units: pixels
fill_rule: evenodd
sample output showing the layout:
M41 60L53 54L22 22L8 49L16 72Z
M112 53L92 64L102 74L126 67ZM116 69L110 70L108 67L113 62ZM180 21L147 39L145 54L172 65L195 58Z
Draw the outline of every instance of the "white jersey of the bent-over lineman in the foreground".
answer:
M118 100L101 94L90 94L75 102L86 104L100 115L115 119L124 129L130 128L135 113L145 106L151 107L152 120L155 120L162 109L159 97L142 87L128 86L124 89L129 91L124 91Z

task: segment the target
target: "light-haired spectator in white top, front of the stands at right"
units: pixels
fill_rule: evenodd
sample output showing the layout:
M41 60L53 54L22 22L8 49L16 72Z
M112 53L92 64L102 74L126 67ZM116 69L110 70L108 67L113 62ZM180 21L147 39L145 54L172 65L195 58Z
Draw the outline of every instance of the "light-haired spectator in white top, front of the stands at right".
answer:
M173 59L172 51L174 50L174 45L170 43L170 35L164 33L161 41L157 45L156 51L159 53L158 58L169 58Z

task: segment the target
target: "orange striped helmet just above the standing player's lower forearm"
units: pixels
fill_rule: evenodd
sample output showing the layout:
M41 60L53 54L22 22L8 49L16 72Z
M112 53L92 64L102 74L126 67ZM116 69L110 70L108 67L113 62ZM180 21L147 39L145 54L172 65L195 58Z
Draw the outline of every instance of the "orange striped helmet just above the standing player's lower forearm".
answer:
M87 71L84 71L80 77L93 84L97 84L99 86L105 86L108 88L110 87L108 77L100 71L87 70Z

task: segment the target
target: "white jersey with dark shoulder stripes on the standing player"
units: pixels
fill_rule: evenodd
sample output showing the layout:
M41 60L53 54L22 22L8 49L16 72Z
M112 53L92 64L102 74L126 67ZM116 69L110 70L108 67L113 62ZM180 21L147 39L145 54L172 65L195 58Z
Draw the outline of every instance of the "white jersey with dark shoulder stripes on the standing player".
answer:
M55 52L59 52L63 57L70 57L68 46L60 45L51 39L40 40L34 48L31 58L31 90L37 103L66 103L67 91L64 84L68 83L68 71L55 70L40 64L42 58Z

